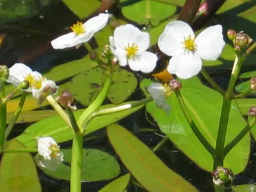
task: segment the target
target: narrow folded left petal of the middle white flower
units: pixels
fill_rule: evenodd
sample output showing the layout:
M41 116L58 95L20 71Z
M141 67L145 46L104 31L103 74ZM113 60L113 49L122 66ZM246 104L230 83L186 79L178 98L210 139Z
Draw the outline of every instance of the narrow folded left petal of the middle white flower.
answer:
M115 38L113 36L109 36L109 43L113 55L119 61L119 65L127 65L126 51L122 49L119 45L116 45Z

